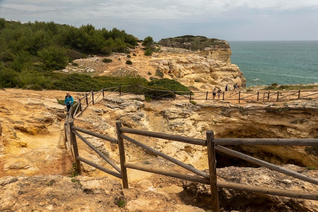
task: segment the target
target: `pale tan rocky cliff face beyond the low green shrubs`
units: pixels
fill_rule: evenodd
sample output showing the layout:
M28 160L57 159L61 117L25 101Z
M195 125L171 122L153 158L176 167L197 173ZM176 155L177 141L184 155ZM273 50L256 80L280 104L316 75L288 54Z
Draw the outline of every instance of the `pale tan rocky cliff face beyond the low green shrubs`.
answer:
M74 63L78 66L70 64L61 71L99 76L122 76L133 72L149 81L151 78L169 78L204 91L211 91L215 86L224 88L226 84L229 87L233 87L235 83L243 87L246 85L246 79L238 66L230 63L230 48L207 47L198 51L165 46L156 48L158 51L151 56L145 56L140 45L131 49L130 58L124 53L108 56L107 58L112 59L111 63L103 63L104 57L99 56L77 59ZM126 60L131 60L132 65L125 64Z

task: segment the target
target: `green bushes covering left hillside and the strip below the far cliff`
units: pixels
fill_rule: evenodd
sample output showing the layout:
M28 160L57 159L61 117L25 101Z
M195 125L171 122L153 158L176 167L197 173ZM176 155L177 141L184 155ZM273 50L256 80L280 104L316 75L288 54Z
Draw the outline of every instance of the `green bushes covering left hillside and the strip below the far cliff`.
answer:
M64 69L74 59L88 55L130 53L129 49L135 48L137 42L136 37L117 28L108 31L105 28L96 29L91 24L77 28L39 21L22 24L0 18L0 87L87 92L92 89L140 84L157 89L169 90L173 87L176 90L189 91L174 80L164 81L159 86L149 85L146 79L132 75L92 77L88 74L54 72ZM152 51L152 38L145 38L143 45Z

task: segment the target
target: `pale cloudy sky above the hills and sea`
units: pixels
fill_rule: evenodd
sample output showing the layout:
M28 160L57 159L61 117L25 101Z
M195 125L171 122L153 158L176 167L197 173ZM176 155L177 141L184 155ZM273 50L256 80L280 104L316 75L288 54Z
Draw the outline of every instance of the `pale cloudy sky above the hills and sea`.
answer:
M0 0L0 17L116 27L154 41L183 35L227 41L318 40L317 0Z

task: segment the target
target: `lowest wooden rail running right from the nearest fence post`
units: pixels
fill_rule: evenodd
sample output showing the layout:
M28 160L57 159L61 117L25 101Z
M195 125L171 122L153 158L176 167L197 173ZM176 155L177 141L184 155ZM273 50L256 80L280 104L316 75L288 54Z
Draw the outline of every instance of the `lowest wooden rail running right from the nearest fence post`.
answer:
M242 184L236 184L236 183L228 183L224 181L217 181L216 185L219 188L225 188L225 189L236 189L236 190L256 192L261 194L318 200L318 193L307 193L307 192L301 192L301 191L289 191L289 190L282 190L282 189L265 188L265 187L242 185Z

